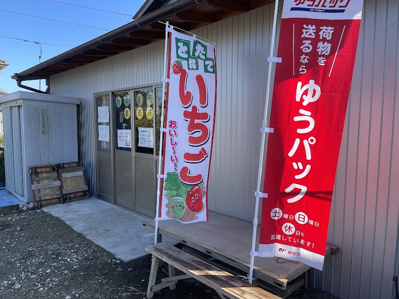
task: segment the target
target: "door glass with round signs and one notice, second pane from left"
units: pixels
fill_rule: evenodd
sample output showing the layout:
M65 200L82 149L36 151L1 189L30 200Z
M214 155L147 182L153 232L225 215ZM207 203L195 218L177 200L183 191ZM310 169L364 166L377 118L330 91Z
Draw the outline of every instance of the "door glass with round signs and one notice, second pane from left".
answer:
M114 94L115 149L132 150L132 117L130 92Z

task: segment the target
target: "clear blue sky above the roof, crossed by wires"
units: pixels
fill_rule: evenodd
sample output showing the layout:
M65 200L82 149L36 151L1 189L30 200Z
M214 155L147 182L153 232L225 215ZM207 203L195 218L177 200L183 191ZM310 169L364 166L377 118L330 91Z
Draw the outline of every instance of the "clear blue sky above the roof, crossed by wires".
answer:
M105 9L132 16L145 0L59 0L99 9ZM132 17L108 13L83 7L61 4L48 0L2 0L0 9L52 18L62 21L85 24L113 30L132 21ZM0 35L21 38L42 43L78 46L109 31L65 24L0 10ZM61 54L72 47L42 45L41 62ZM0 58L10 64L0 72L0 89L11 93L20 89L14 73L24 71L39 63L40 49L37 44L0 37ZM39 87L38 80L24 81L22 84ZM45 82L41 80L41 89Z

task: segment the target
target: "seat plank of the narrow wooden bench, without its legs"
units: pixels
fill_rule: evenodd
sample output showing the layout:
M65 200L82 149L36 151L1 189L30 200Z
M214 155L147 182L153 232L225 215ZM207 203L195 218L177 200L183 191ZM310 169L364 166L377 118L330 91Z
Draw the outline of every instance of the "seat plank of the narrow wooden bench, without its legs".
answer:
M145 250L228 298L280 299L172 245L159 243Z

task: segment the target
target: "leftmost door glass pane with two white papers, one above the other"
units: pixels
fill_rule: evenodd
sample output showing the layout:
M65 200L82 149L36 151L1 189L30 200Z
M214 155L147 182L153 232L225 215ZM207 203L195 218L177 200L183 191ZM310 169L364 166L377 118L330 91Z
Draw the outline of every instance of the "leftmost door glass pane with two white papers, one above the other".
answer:
M110 142L110 97L109 94L96 95L96 131L97 131L97 148L111 149Z

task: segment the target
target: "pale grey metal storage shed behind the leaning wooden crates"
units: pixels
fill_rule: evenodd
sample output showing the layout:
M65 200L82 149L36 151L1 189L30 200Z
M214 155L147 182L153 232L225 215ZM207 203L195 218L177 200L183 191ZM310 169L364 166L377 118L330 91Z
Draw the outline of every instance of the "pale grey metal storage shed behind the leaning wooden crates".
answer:
M6 188L33 200L28 167L78 159L80 99L18 91L0 97L3 113Z

